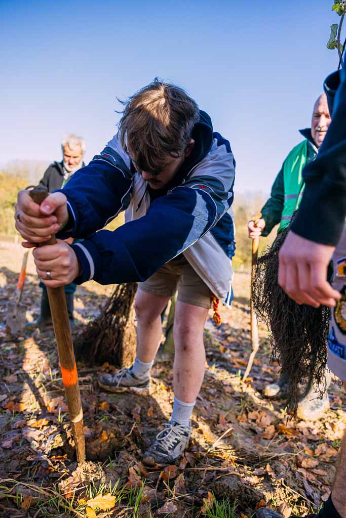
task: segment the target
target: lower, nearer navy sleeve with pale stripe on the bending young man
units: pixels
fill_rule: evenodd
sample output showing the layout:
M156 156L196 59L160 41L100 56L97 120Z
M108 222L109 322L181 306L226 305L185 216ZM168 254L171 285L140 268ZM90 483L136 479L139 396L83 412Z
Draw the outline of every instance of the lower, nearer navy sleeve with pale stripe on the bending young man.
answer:
M217 220L209 193L178 186L156 199L145 216L114 232L102 230L72 245L82 269L80 284L144 281L183 252Z

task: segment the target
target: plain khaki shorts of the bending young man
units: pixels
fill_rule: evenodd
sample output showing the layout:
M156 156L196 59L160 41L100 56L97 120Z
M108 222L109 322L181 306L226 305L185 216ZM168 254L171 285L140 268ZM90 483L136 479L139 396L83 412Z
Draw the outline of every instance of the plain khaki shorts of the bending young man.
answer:
M139 290L154 295L173 297L178 290L177 300L209 309L212 294L209 287L196 274L183 254L166 263L145 282L138 283Z

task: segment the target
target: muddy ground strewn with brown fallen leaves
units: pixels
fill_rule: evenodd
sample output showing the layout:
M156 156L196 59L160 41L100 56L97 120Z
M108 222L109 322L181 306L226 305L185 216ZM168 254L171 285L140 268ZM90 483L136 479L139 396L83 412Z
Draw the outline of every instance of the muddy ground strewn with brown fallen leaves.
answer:
M177 466L148 469L142 453L172 410L172 363L155 364L144 397L100 390L98 372L112 366L78 363L88 463L78 466L52 327L13 339L6 303L13 297L23 249L0 243L0 515L251 516L259 506L285 518L316 511L330 491L346 426L346 397L333 382L330 410L318 422L287 421L285 400L262 395L276 380L268 332L246 382L251 351L250 275L238 272L231 311L207 322L207 368L193 412L189 449ZM99 313L112 286L93 281L76 292L76 328ZM29 260L22 304L32 321L40 289ZM99 500L95 500L98 496Z

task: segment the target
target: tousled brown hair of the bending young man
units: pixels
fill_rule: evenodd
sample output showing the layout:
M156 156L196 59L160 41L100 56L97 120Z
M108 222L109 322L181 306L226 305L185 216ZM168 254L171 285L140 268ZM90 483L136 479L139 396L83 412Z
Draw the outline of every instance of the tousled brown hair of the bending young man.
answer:
M121 145L127 152L130 148L139 170L158 174L167 154L183 155L199 110L182 88L156 78L120 102L125 107L119 122Z

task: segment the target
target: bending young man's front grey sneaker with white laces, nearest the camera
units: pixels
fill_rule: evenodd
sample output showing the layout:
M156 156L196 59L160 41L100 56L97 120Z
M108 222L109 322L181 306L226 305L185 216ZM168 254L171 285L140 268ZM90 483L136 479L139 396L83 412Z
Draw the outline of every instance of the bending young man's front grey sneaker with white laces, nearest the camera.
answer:
M191 424L188 426L175 423L174 421L164 423L164 429L156 436L153 445L145 452L143 464L146 466L157 466L172 464L187 447L191 434Z

